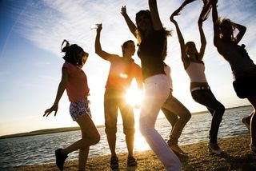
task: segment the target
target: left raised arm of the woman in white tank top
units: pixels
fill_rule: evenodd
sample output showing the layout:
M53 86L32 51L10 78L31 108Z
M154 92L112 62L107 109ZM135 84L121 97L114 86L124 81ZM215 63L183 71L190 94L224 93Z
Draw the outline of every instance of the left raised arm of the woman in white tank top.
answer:
M179 29L178 27L178 23L174 20L174 15L175 14L172 14L170 16L170 22L173 22L174 23L174 26L176 28L176 32L177 32L177 35L178 35L178 42L179 42L179 45L181 47L181 56L182 56L182 62L183 62L183 66L185 67L185 69L187 68L187 66L189 66L189 60L188 58L186 57L186 48L185 48L185 43L184 43L184 38L182 36L182 32L181 30Z

